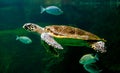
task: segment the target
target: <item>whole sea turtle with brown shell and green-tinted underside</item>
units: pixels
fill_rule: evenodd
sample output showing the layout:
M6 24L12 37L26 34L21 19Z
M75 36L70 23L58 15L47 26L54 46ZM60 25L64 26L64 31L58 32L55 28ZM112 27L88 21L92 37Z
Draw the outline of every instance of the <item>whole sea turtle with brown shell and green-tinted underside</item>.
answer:
M34 23L25 23L23 28L40 34L44 47L53 47L49 50L54 54L57 54L56 49L63 49L63 45L87 46L100 53L106 52L104 39L76 27L50 25L43 28Z

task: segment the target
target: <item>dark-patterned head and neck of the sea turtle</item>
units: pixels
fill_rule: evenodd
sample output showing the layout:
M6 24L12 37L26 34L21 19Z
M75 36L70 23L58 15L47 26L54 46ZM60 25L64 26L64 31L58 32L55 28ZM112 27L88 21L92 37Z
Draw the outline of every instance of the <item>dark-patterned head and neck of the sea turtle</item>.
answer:
M23 28L30 32L38 32L38 33L43 32L43 28L34 23L25 23L23 25Z

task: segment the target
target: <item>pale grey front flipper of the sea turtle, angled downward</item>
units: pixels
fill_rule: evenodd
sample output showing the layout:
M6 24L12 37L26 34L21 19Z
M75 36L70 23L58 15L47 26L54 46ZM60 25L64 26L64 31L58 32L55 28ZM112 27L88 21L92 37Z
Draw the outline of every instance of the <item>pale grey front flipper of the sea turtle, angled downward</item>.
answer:
M42 33L41 34L41 40L45 41L49 46L52 46L57 49L63 49L63 47L57 43L52 36L50 36L48 33Z

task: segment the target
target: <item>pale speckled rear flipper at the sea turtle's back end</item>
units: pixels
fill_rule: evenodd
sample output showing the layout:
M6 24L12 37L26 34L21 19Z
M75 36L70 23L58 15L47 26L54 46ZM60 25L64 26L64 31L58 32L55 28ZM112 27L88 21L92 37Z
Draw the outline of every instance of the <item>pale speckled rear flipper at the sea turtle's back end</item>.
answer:
M107 52L104 41L98 41L98 42L93 43L91 45L91 48L93 48L95 51L100 52L100 53Z

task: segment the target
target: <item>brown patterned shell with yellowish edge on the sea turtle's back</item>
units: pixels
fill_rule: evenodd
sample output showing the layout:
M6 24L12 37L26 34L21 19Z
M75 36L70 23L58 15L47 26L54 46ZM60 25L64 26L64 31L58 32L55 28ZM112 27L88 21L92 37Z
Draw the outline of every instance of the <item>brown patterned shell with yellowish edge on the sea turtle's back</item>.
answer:
M80 28L65 26L65 25L51 25L46 26L45 31L49 32L52 36L56 38L73 38L82 40L103 40L85 30Z

